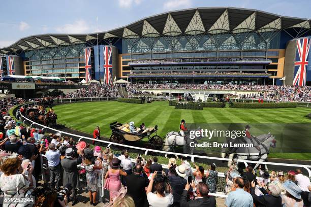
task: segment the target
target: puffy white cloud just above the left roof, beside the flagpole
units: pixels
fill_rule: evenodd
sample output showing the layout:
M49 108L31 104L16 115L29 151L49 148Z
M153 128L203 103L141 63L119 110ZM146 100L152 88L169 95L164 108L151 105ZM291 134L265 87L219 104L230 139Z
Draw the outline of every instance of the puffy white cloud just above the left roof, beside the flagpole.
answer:
M60 33L85 33L91 30L91 26L84 20L77 20L72 24L55 27L55 30Z

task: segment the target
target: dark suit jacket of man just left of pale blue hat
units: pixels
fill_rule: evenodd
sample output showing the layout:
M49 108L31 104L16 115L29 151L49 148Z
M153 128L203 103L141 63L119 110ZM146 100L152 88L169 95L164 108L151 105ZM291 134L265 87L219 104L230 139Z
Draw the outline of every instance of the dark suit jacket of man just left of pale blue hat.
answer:
M276 207L282 206L282 198L281 196L274 197L273 195L269 195L264 188L259 189L264 195L256 195L255 188L251 188L251 195L254 200L254 204L256 207L266 206L266 207Z

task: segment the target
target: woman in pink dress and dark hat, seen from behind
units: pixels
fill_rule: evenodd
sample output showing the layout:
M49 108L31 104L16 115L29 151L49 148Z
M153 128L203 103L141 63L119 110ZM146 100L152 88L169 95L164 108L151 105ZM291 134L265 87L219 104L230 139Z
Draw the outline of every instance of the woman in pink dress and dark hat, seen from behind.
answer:
M128 175L125 171L120 169L120 162L118 158L113 158L109 163L110 169L105 176L106 182L104 188L109 190L110 202L118 195L121 188L120 176Z

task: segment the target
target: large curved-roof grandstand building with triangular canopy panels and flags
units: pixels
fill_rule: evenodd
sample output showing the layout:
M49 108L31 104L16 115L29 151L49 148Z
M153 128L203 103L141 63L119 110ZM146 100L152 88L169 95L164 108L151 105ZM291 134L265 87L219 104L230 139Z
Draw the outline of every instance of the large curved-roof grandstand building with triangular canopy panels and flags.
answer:
M1 76L310 85L310 25L309 19L252 9L172 11L105 32L22 38L0 48Z

